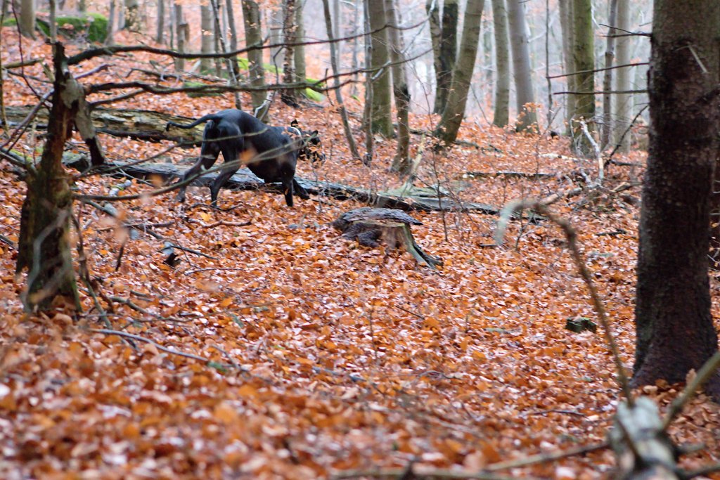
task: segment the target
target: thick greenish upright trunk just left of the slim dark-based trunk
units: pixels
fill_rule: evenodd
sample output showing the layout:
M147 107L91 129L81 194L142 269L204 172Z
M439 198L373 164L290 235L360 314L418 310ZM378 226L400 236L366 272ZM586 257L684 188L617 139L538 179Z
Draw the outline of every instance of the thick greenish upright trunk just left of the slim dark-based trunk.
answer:
M390 85L390 53L387 48L387 13L384 0L366 0L370 15L372 52L372 112L370 129L384 137L392 137L392 90ZM386 66L383 66L386 65ZM382 68L382 70L378 70Z

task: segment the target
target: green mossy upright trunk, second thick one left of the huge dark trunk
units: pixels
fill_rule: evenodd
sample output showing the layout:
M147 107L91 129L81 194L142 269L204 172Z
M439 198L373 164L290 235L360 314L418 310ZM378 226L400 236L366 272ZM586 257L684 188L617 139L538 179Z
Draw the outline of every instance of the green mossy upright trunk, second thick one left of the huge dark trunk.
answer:
M572 112L572 150L589 156L594 148L588 133L595 131L595 40L593 37L593 3L591 0L572 0L573 38L572 63L575 66L575 111ZM582 128L587 125L588 133Z

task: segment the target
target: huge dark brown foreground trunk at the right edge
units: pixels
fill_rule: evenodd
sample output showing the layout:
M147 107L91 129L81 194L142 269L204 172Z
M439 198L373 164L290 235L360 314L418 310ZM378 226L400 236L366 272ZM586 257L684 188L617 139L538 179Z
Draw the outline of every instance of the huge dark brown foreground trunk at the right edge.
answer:
M720 2L655 0L642 191L634 384L684 381L718 348L708 225L720 155ZM706 391L720 400L720 373Z

